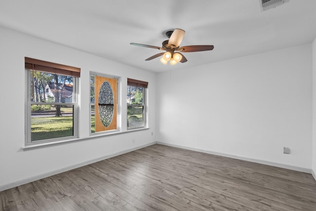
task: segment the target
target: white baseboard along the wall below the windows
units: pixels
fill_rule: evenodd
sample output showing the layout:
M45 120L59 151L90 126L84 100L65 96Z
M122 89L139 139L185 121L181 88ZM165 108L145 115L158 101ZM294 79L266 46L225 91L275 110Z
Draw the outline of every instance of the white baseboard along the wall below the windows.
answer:
M96 162L99 162L99 161L102 161L102 160L105 160L105 159L108 159L108 158L112 158L112 157L115 157L115 156L118 156L118 155L122 155L122 154L125 154L125 153L128 153L128 152L132 152L132 151L135 151L135 150L138 150L138 149L141 149L141 148L144 148L144 147L148 147L148 146L151 146L151 145L154 145L154 144L156 144L156 141L148 143L148 144L140 145L140 146L137 146L137 147L134 147L134 148L130 148L130 149L127 149L127 150L122 150L122 151L119 151L119 152L116 152L116 153L113 153L113 154L110 154L110 155L102 156L100 158L96 158L96 159L92 159L92 160L89 160L89 161L85 161L85 162L82 162L82 163L79 163L79 164L76 164L76 165L73 165L73 166L69 166L69 167L66 167L66 168L49 171L49 172L42 173L42 174L39 174L39 175L35 175L35 176L29 177L29 178L25 178L25 179L21 179L21 180L18 180L18 181L15 181L15 182L11 182L11 183L8 183L8 184L0 185L0 191L4 191L4 190L10 189L10 188L14 188L14 187L17 187L19 185L23 185L23 184L26 184L26 183L29 183L29 182L33 182L33 181L36 181L36 180L39 180L39 179L42 179L42 178L45 178L45 177L48 177L48 176L52 176L52 175L55 175L55 174L58 174L58 173L62 173L62 172L68 171L68 170L77 169L79 167L83 167L83 166L86 166L86 165L89 165L89 164L93 164L93 163L96 163Z

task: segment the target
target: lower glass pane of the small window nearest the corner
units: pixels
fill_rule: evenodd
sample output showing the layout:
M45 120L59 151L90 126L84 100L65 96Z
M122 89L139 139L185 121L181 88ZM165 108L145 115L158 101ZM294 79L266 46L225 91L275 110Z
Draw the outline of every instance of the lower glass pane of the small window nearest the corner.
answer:
M127 106L127 128L144 127L144 106Z

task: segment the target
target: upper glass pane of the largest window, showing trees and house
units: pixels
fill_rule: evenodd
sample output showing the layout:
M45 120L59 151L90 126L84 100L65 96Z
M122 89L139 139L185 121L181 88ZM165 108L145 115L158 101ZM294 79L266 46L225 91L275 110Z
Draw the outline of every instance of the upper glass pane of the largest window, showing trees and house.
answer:
M74 102L74 78L57 74L30 71L31 102Z

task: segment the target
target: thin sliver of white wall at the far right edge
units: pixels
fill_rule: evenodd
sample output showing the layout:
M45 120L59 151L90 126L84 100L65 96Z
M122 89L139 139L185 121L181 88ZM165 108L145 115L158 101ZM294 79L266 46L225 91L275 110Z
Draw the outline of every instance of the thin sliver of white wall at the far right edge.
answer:
M313 42L313 144L312 169L316 179L316 38Z

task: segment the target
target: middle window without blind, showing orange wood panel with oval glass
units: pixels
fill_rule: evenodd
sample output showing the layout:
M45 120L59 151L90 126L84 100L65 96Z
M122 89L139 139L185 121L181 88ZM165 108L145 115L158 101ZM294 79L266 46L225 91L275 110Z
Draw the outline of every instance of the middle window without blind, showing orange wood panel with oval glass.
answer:
M118 77L90 73L90 133L118 130Z

